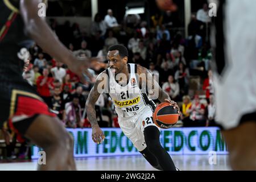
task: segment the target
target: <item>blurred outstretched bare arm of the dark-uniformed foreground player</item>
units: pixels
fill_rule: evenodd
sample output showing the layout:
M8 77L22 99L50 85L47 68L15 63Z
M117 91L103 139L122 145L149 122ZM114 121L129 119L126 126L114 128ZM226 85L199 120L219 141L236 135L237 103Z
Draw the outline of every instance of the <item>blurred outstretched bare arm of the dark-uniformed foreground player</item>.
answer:
M21 0L20 15L24 22L24 31L49 55L56 60L68 65L72 72L75 72L82 81L85 70L98 59L78 60L55 36L44 17L38 15L38 5L42 0ZM87 72L88 75L88 72ZM89 75L90 76L90 75Z

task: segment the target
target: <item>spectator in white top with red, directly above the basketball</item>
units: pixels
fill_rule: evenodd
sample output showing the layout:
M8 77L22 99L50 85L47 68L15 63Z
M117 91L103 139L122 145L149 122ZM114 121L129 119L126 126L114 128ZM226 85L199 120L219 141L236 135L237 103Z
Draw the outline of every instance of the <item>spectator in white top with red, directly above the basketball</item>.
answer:
M177 97L180 93L180 88L179 84L175 82L174 76L168 76L168 82L165 82L163 84L162 89L170 96L171 100L177 101Z

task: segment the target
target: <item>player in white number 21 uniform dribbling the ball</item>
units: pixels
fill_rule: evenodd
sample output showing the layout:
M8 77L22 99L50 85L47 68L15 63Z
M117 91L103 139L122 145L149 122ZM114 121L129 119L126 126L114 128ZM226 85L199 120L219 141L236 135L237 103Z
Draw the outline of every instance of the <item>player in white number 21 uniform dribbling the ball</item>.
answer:
M146 88L152 88L147 91L154 91L152 96L156 96L159 101L170 102L170 105L179 110L176 102L171 101L168 94L163 92L146 68L137 64L127 64L126 47L121 45L110 47L108 60L109 68L97 77L86 101L86 113L92 124L93 141L101 143L105 138L98 126L94 107L100 94L105 92L114 102L119 126L123 133L151 166L160 170L176 171L171 156L160 144L160 129L152 119L155 104L147 97ZM143 79L145 77L142 75L147 79Z

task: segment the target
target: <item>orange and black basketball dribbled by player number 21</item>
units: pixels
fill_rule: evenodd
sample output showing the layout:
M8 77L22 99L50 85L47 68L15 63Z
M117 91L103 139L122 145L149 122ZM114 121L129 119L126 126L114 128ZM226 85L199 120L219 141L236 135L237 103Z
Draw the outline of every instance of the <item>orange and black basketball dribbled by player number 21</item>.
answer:
M153 113L153 119L156 126L162 129L169 129L177 123L179 114L174 109L174 106L170 106L170 103L164 102L156 107Z

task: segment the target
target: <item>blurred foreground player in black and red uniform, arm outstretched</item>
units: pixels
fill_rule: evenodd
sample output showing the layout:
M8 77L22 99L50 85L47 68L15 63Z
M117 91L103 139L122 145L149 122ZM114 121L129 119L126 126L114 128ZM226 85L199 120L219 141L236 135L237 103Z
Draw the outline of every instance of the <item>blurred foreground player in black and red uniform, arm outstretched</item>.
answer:
M20 140L25 137L43 148L46 165L39 169L75 170L71 136L35 88L23 80L22 72L31 38L81 79L93 61L78 60L57 40L44 17L38 15L41 2L0 1L0 128L7 122Z

